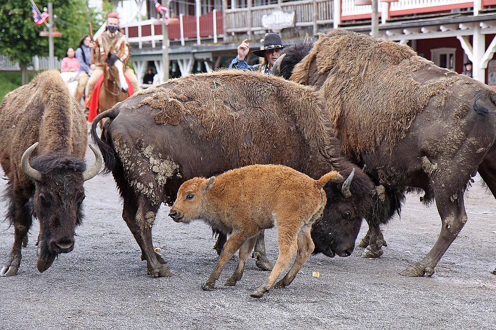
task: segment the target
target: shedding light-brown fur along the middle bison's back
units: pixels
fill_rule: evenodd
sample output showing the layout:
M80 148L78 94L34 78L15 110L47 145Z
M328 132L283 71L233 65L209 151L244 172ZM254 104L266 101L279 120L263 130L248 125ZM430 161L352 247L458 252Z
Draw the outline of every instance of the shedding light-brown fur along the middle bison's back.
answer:
M328 137L332 132L323 115L321 97L314 92L279 77L222 70L156 86L146 93L137 110L150 111L157 124L178 125L186 118L191 134L200 141L232 150L232 156L242 150L247 159L260 152L252 146L264 145L267 135L277 136L286 129L274 122L291 120L314 150L330 157L333 152ZM252 135L247 127L256 127L265 135ZM233 141L240 141L240 145L232 145Z

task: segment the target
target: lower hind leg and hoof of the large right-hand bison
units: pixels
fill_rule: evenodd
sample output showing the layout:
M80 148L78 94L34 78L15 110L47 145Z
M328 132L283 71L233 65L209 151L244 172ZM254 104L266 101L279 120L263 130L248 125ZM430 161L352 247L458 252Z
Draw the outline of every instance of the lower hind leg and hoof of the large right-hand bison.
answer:
M408 266L401 275L405 276L432 276L434 274L434 267L437 265L444 252L448 249L449 245L458 236L463 226L467 222L467 213L465 212L465 204L463 202L463 191L441 197L435 197L437 210L441 216L441 232L437 241L434 243L431 251L421 261Z

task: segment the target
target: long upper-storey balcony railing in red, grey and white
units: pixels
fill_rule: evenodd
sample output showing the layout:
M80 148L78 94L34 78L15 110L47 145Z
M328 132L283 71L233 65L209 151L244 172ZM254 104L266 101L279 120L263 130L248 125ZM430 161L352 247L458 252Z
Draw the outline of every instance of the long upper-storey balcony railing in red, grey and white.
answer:
M262 16L269 15L272 11L295 12L295 28L311 27L314 31L320 28L334 26L352 20L370 19L372 16L371 5L355 5L355 0L339 1L334 6L333 0L300 0L282 2L278 4L251 6L249 8L229 8L224 11L209 12L199 17L199 33L196 31L196 17L180 15L180 24L169 26L169 39L181 41L184 45L187 40L196 40L199 44L201 39L217 38L224 35L247 33L253 31L265 31L262 26ZM480 1L481 8L496 5L496 0ZM379 17L382 22L391 17L401 17L411 14L442 13L455 9L471 9L474 1L467 0L399 0L397 2L379 2ZM337 10L339 9L339 10ZM337 10L337 12L334 12ZM214 24L215 22L215 24ZM215 26L215 27L214 27ZM224 31L225 28L225 31ZM215 31L214 31L215 29ZM290 28L291 29L291 28ZM162 41L162 25L158 20L144 20L140 23L133 22L125 26L125 32L129 41L138 44L151 42L155 47L156 42ZM224 33L225 32L225 33ZM225 40L225 39L224 39Z

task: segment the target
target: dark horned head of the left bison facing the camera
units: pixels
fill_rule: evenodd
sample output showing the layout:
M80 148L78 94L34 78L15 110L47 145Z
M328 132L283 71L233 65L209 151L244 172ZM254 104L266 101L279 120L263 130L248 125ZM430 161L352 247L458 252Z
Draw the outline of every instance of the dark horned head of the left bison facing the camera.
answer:
M37 266L44 272L59 253L72 251L74 230L82 220L83 182L97 175L102 158L90 145L96 160L87 171L84 159L50 153L34 157L30 165L29 155L37 145L38 142L24 152L21 167L36 187L33 213L40 221Z

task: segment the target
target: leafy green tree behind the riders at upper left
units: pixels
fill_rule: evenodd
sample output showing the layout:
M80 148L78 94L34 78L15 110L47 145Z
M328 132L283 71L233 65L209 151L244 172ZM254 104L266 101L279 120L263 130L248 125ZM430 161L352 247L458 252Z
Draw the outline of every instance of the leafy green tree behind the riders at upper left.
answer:
M46 2L45 2L46 1ZM77 47L84 34L89 33L88 15L84 0L52 0L54 26L61 32L61 38L54 38L55 55L65 55L67 47ZM35 0L43 11L48 0ZM95 29L103 22L100 10L92 9ZM33 21L30 1L2 0L0 2L0 54L7 55L22 69L22 84L27 83L27 67L34 55L48 56L48 37L39 33L46 25L37 26Z

